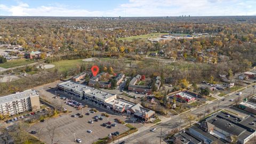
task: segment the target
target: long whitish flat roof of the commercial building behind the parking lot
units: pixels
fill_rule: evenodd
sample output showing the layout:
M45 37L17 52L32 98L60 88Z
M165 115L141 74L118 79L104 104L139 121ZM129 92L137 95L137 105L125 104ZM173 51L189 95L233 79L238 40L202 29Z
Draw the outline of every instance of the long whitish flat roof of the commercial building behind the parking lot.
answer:
M101 90L97 90L93 87L78 84L75 82L67 81L58 84L59 86L65 87L66 89L70 89L79 93L85 93L86 95L89 95L91 97L96 97L98 99L106 100L108 98L114 97L116 94L111 94L108 92L103 92Z

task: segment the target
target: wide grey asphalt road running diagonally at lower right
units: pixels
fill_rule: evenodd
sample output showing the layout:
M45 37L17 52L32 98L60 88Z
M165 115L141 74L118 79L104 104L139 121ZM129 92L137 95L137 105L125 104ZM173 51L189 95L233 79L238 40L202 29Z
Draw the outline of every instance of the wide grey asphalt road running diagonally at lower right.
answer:
M218 100L215 102L210 103L209 105L206 105L206 108L209 108L212 110L212 108L214 106L218 106L220 107L220 109L225 109L227 107L229 107L232 103L234 103L234 101L230 101L231 99L235 99L237 97L247 97L248 95L252 94L253 92L253 87L249 86L247 89L241 91L242 95L237 95L235 93L230 94L229 96L227 96L225 99L225 101L222 100ZM236 92L238 93L238 92ZM255 94L256 92L254 92ZM199 107L195 110L190 111L189 113L192 115L197 115L199 113L204 113L205 111L205 106ZM213 110L212 110L213 111ZM129 138L125 139L126 143L138 143L141 141L147 141L150 143L160 143L160 134L161 134L161 128L162 128L162 135L167 134L170 130L178 128L179 124L183 124L184 122L181 121L180 119L182 119L183 115L176 115L173 116L171 120L161 123L159 125L153 126L153 127L149 127L147 130L141 131L138 134L134 134L131 135ZM156 128L156 130L154 132L150 132L150 129Z

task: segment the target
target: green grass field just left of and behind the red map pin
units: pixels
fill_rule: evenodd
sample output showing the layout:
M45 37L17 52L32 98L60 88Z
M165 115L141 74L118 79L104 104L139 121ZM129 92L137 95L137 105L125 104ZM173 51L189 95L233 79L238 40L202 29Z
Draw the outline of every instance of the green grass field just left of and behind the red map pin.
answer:
M82 65L82 63L89 63L89 62L83 62L82 59L56 61L56 62L50 63L52 65L55 65L55 67L51 68L49 70L53 70L55 68L58 68L60 72L63 72L63 71L68 70L68 69L74 69L78 65Z

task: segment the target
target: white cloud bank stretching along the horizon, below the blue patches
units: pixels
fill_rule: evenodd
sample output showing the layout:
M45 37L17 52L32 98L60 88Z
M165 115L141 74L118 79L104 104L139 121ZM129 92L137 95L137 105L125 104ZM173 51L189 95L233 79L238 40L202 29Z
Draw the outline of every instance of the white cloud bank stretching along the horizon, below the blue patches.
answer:
M49 1L48 1L49 2ZM111 3L110 3L111 4ZM77 4L79 5L79 4ZM255 15L256 1L247 0L130 0L113 10L88 11L65 4L51 3L31 7L17 1L17 5L0 4L0 9L13 16L76 16L76 17L157 17L179 15Z

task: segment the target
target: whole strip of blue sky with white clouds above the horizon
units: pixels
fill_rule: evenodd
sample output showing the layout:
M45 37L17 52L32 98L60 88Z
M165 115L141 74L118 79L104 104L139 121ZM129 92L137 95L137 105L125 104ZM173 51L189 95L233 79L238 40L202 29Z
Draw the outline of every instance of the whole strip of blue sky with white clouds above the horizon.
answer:
M0 0L2 16L256 15L256 0Z

